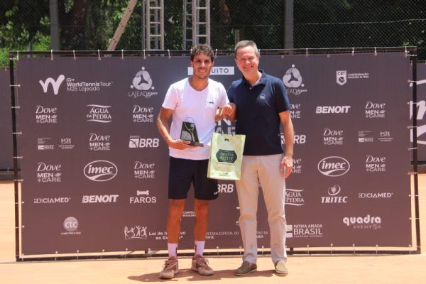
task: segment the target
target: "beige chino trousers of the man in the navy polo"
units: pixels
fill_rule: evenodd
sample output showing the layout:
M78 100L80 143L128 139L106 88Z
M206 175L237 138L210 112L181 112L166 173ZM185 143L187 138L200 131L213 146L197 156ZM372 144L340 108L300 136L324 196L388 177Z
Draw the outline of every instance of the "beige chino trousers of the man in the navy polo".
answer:
M273 263L287 261L285 251L285 179L280 172L283 154L244 155L241 180L236 180L236 192L240 206L239 226L244 245L243 261L257 260L257 208L258 182L268 210L271 234L271 258Z

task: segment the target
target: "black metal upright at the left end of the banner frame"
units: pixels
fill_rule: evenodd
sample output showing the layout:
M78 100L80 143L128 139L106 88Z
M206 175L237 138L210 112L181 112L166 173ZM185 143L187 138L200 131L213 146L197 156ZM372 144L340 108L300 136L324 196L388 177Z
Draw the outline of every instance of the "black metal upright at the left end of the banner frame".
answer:
M18 173L18 146L16 143L16 99L15 99L15 77L13 74L13 55L9 53L9 72L11 82L11 107L12 107L12 137L13 137L13 184L15 185L15 256L19 261L19 173Z

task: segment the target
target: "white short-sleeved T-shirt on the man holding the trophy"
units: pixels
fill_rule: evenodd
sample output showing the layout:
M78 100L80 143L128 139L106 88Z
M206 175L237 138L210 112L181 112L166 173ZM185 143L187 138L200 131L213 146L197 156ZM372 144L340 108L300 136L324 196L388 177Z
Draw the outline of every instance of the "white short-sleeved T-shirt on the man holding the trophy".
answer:
M216 126L214 117L218 107L229 103L226 90L222 83L209 79L209 84L202 91L192 88L189 78L170 85L163 106L173 109L173 121L170 135L173 139L180 138L182 122L193 122L197 128L198 139L204 147L178 150L170 148L170 156L188 160L206 160L210 155L210 141Z

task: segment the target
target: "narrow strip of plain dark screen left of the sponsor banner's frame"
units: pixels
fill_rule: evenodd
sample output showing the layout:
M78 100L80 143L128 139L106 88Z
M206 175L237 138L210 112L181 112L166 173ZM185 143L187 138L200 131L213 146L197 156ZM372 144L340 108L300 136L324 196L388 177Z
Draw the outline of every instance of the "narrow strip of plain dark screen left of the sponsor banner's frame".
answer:
M13 169L11 87L9 69L0 69L0 170Z

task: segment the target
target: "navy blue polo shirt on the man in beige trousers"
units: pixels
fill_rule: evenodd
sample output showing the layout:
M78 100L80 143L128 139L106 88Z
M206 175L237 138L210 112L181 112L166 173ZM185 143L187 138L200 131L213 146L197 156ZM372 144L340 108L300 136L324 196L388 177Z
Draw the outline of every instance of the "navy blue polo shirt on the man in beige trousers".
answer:
M253 87L244 76L231 83L229 102L236 104L236 133L246 135L244 155L283 153L280 116L290 109L283 82L263 70L261 80Z

